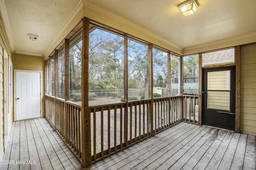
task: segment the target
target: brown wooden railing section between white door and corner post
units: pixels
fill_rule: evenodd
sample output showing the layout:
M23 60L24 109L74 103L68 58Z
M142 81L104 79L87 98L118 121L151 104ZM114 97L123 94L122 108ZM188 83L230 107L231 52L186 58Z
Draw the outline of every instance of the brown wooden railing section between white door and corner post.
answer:
M45 95L45 117L77 158L81 159L81 106Z

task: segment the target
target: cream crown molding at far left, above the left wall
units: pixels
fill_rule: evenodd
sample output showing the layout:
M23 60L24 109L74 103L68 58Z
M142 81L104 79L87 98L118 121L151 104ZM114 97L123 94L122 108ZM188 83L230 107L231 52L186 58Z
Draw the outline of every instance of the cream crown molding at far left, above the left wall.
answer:
M5 32L7 35L7 39L9 41L10 49L11 49L11 51L14 51L14 42L13 42L13 38L12 38L12 31L11 31L11 27L10 27L4 0L0 0L0 12L2 14L2 18L3 18L3 22L4 22L4 29L5 29Z

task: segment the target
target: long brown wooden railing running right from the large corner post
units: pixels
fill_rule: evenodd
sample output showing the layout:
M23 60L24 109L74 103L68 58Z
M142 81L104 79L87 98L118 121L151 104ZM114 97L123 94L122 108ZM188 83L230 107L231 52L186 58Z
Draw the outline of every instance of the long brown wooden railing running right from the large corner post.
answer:
M92 163L182 121L181 102L174 96L90 106Z

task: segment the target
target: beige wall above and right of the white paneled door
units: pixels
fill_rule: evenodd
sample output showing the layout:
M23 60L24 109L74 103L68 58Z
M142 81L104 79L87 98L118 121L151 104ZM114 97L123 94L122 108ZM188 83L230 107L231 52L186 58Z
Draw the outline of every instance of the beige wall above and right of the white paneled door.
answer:
M42 101L42 115L44 117L44 57L13 54L13 68L16 70L31 70L42 71L41 77L41 101Z

